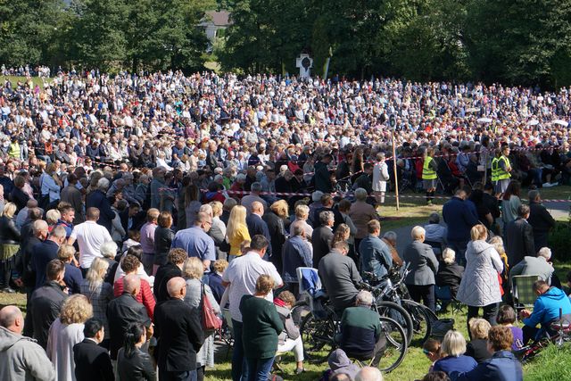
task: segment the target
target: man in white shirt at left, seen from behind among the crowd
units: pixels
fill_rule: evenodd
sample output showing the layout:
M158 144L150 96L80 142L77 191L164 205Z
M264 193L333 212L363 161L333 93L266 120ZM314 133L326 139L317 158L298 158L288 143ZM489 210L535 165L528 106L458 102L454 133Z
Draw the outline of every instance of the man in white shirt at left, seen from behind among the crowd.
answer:
M86 221L74 227L68 238L68 244L78 241L79 266L84 274L95 258L103 258L101 245L113 240L107 228L97 224L97 219L99 219L99 209L87 208Z

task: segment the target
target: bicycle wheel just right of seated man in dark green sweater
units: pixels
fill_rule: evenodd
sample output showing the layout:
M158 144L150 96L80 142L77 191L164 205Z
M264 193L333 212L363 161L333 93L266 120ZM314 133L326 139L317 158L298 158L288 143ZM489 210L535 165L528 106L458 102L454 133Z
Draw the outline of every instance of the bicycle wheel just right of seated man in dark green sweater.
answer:
M390 318L380 317L381 338L385 336L385 351L373 361L381 371L388 373L401 365L409 345L404 329Z

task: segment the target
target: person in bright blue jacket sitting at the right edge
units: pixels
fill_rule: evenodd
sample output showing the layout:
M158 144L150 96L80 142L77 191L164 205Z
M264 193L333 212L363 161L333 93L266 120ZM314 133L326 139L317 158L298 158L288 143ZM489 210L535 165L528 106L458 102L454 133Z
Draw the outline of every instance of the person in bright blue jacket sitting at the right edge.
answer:
M571 302L567 295L557 287L550 287L544 280L534 282L534 292L537 299L534 302L534 312L522 310L519 317L524 322L524 345L530 340L537 340L545 333L552 335L554 332L550 327L551 323L559 321L560 318L571 323ZM536 326L540 324L541 328Z

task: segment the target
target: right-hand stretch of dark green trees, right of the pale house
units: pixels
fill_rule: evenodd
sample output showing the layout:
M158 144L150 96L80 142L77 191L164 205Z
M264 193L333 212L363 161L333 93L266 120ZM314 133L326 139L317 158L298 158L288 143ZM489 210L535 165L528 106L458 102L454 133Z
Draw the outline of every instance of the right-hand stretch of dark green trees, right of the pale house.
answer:
M568 0L237 0L225 69L571 84Z

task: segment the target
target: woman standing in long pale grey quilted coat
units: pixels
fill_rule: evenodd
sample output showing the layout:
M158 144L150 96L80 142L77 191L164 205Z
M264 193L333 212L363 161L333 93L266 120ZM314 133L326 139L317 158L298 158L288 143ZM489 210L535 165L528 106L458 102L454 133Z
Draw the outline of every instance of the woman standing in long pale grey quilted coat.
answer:
M468 305L468 321L484 310L484 319L496 324L498 304L501 302L498 273L503 270L500 254L486 241L487 229L479 224L470 230L472 240L466 250L466 270L456 298Z

